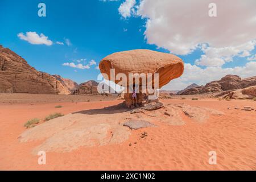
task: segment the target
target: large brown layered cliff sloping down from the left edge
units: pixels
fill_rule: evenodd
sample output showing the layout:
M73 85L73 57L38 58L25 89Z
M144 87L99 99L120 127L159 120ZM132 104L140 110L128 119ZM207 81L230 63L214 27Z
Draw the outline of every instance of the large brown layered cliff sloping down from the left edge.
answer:
M69 94L60 81L36 71L26 60L0 45L0 93Z

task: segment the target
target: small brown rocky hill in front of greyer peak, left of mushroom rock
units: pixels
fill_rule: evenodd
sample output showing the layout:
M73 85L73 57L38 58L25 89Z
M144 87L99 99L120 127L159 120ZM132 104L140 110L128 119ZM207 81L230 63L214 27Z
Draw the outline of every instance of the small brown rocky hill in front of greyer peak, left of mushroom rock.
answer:
M77 86L77 88L73 91L73 94L93 94L98 95L97 91L98 82L94 80L86 81Z

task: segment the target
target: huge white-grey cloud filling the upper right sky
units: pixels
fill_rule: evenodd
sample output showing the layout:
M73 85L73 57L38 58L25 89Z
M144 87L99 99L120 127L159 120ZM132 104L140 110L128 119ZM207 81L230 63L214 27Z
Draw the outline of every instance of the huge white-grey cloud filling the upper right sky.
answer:
M142 0L137 14L147 18L147 43L186 55L203 43L213 48L236 47L256 39L255 0L215 0L214 18L208 15L211 2ZM123 12L125 18L130 16L130 11Z

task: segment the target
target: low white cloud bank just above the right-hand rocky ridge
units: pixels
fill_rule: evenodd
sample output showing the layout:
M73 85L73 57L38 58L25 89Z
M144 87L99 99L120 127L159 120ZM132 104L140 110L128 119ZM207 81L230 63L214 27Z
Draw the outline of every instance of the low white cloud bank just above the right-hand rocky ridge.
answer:
M172 80L162 89L181 90L186 86L196 83L197 85L205 85L210 81L220 80L225 75L238 75L242 78L255 76L256 62L246 63L244 67L221 68L207 67L200 68L197 65L185 64L184 73L181 77Z

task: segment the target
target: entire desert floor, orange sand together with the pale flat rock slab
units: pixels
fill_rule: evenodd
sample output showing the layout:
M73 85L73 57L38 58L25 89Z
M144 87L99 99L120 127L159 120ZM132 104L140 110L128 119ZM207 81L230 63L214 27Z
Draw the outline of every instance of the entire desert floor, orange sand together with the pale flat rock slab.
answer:
M161 109L134 114L119 105L121 100L0 104L0 169L256 169L256 111L242 110L256 108L256 102L162 102ZM54 112L65 115L31 129L23 126ZM131 130L123 126L129 119L154 127ZM38 164L39 150L46 150L46 165ZM208 162L210 151L217 153L216 165Z

